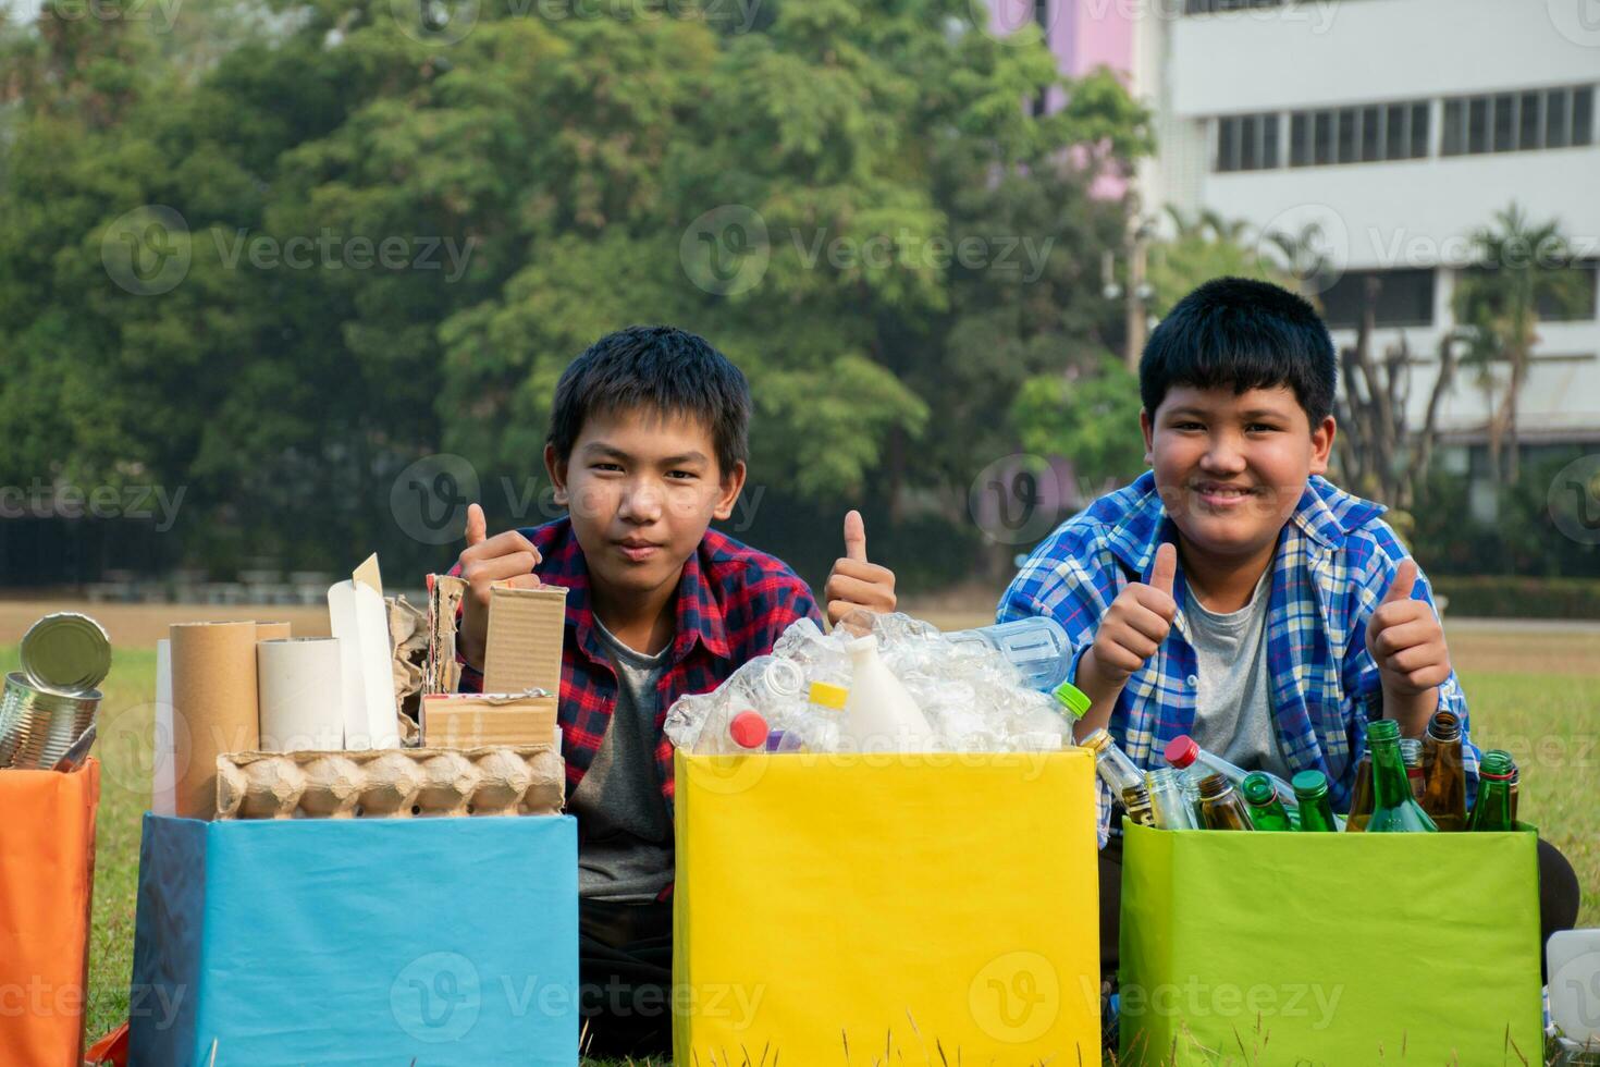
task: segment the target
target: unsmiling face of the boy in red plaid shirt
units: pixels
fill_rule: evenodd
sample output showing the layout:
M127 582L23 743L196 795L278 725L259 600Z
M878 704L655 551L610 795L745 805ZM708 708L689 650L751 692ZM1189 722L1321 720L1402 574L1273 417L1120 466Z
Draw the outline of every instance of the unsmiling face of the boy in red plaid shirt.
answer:
M720 470L707 426L648 408L586 416L568 461L546 446L544 462L597 592L624 600L675 587L744 488L744 464Z

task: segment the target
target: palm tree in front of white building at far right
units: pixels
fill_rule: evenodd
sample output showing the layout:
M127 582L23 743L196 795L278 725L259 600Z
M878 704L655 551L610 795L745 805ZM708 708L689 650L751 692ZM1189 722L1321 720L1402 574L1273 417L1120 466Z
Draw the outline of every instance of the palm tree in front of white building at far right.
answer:
M1462 363L1477 368L1478 384L1490 395L1490 477L1517 482L1517 402L1528 381L1528 360L1539 342L1539 307L1578 310L1584 302L1586 275L1566 269L1571 253L1552 219L1534 226L1512 203L1494 214L1494 224L1472 235L1478 267L1456 283L1456 323L1466 339ZM1494 366L1509 363L1504 382ZM1496 403L1494 392L1499 390Z

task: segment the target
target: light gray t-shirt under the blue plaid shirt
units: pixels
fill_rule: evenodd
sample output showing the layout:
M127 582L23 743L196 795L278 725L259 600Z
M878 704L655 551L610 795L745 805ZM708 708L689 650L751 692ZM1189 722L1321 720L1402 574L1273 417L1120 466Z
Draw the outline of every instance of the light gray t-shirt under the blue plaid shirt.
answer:
M1208 611L1190 590L1184 621L1198 659L1194 739L1246 771L1291 774L1272 721L1267 670L1267 605L1272 568L1238 611Z

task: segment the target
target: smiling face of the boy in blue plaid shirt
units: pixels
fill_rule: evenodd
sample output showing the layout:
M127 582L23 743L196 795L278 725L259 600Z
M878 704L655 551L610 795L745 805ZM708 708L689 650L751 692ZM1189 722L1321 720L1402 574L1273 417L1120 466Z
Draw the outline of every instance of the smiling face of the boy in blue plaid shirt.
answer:
M1184 539L1211 558L1272 549L1306 480L1328 469L1334 424L1312 427L1288 386L1173 386L1139 414L1155 488Z

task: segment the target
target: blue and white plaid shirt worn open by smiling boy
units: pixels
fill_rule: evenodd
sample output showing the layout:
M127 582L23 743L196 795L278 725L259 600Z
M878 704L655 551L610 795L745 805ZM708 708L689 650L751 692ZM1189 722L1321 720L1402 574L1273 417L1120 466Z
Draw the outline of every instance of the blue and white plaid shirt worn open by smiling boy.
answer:
M1283 525L1272 563L1267 606L1267 669L1272 720L1283 758L1296 771L1328 776L1328 797L1347 811L1366 723L1382 715L1378 664L1366 651L1366 622L1394 581L1406 550L1381 518L1384 507L1350 496L1314 475ZM1072 641L1072 672L1094 641L1101 616L1130 581L1147 582L1155 549L1178 530L1155 493L1155 475L1102 496L1069 518L1022 565L1000 598L997 619L1048 614ZM1198 675L1189 627L1182 565L1173 581L1178 616L1155 656L1128 680L1110 715L1110 736L1142 768L1163 766L1166 742L1194 733ZM1418 571L1411 593L1434 603ZM1438 709L1461 717L1467 699L1456 675L1438 686ZM1478 752L1464 745L1469 797L1477 789ZM1110 795L1099 792L1101 843Z

